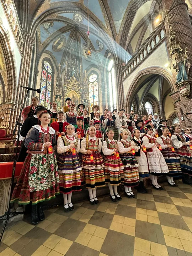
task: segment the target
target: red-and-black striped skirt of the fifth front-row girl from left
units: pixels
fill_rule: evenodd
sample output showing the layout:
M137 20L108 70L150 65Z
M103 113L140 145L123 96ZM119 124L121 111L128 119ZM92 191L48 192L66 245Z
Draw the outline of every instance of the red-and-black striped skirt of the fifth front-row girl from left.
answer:
M139 185L138 164L135 157L131 153L120 154L124 165L124 178L122 183L126 187L136 187Z

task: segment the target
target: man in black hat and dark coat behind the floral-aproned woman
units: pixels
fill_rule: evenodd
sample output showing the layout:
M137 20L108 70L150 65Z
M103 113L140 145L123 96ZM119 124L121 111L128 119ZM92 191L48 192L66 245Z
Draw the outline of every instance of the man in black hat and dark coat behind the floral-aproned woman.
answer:
M46 110L46 107L44 107L43 105L37 105L35 107L34 116L26 118L22 124L21 133L20 133L22 137L26 138L28 131L32 128L32 126L35 126L38 123L39 115L45 110ZM27 148L25 147L25 140L24 140L21 146L21 150L20 150L17 162L23 162L26 156L27 156Z

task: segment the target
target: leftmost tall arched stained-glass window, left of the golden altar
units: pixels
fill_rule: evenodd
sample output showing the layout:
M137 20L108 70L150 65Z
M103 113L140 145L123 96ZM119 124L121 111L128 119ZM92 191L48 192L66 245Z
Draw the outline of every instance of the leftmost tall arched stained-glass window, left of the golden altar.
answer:
M41 77L41 95L40 95L40 105L44 105L46 108L50 109L50 97L52 89L52 67L47 62L43 62L43 70Z

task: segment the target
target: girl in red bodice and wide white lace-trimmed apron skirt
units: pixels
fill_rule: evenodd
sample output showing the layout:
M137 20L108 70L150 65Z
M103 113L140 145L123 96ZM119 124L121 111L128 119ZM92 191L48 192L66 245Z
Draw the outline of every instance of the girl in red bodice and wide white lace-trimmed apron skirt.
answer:
M153 128L149 124L145 124L144 130L146 135L142 140L147 151L146 155L148 159L152 186L156 190L163 190L163 188L158 184L157 176L168 175L169 169L163 155L161 154L161 151L157 148L157 146L160 146L160 144L156 142L156 138L152 135Z

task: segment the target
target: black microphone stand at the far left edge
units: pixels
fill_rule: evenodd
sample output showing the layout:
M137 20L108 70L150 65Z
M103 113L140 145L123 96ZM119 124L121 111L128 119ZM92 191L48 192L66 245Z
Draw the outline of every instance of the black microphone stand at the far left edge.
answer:
M14 129L14 132L13 132L13 136L14 136L14 135L15 135L15 132L16 132L16 129L17 129L17 126L18 126L17 144L16 144L16 154L15 154L15 159L14 159L13 169L12 169L10 195L8 195L8 198L9 198L9 201L8 201L9 207L8 207L7 211L5 212L5 214L2 215L2 216L0 216L0 221L4 221L4 220L5 220L5 223L4 223L4 225L3 225L3 228L2 228L2 231L1 231L1 235L0 235L0 243L1 243L2 236L3 236L3 234L4 234L4 231L5 231L5 228L6 228L6 226L7 226L7 223L9 222L10 215L11 215L11 217L14 217L15 215L18 215L18 214L22 214L22 213L23 213L23 212L11 212L11 205L12 205L12 204L10 203L10 200L11 200L12 192L13 192L13 190L14 190L15 168L16 168L16 163L17 163L17 150L18 150L18 144L19 144L19 138L20 138L20 130L21 130L21 126L22 126L22 123L20 122L20 118L21 118L21 113L22 113L23 107L24 107L24 105L25 105L25 102L26 102L26 99L27 99L27 96L28 96L29 91L30 91L30 90L27 90L27 93L26 93L26 95L25 95L24 102L23 102L23 105L22 105L22 107L21 107L20 114L19 114L18 119L17 119L17 121L16 121L15 129Z

